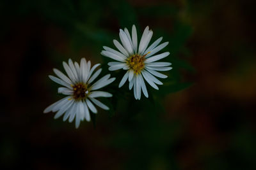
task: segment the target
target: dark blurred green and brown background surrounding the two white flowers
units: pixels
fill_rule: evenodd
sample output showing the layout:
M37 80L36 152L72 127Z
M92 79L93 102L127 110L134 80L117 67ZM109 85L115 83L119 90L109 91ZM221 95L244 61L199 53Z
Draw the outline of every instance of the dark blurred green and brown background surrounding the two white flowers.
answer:
M255 1L0 2L1 169L256 169ZM173 63L149 99L121 72L92 122L43 114L61 99L49 80L62 61L102 62L120 28L149 25ZM2 70L3 69L3 70Z

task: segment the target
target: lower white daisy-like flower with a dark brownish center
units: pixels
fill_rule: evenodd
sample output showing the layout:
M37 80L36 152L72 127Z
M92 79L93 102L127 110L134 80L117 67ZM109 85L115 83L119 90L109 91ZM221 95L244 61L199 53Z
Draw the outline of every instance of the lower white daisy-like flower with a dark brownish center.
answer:
M112 94L95 90L109 85L109 83L112 83L115 78L109 78L110 74L107 74L92 84L92 82L102 71L102 69L98 69L95 73L93 73L93 71L95 71L99 65L100 64L95 64L91 68L90 60L86 62L86 60L83 58L81 59L79 66L77 62L73 63L72 60L69 59L68 64L63 62L63 67L67 72L68 77L61 73L61 71L58 69L53 69L54 73L59 78L51 75L49 78L51 78L52 81L64 86L58 89L58 93L65 94L67 97L57 101L54 104L51 104L51 106L48 106L44 110L44 113L58 111L54 118L59 118L65 113L63 121L68 119L69 122L72 122L76 117L76 128L78 128L81 120L84 120L84 118L88 122L90 121L89 110L91 110L93 113L97 113L97 109L95 108L94 104L104 110L109 110L108 106L95 98L112 97Z

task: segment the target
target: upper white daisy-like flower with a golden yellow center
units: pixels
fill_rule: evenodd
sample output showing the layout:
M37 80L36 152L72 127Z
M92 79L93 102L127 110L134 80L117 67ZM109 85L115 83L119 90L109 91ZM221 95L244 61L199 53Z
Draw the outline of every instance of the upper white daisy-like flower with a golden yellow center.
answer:
M108 63L110 66L109 71L117 69L127 70L120 81L119 87L122 87L128 79L129 89L131 90L133 87L134 97L139 100L141 98L141 90L145 97L148 97L144 79L154 89L158 90L157 85L163 85L163 83L157 80L155 76L159 78L167 78L167 76L157 71L168 71L172 69L172 67L168 67L171 65L170 62L156 62L157 60L167 57L170 54L169 52L154 55L168 45L168 42L159 45L163 39L163 37L161 37L154 41L152 45L148 46L152 35L153 31L149 30L147 26L141 36L140 45L138 46L136 27L132 25L132 36L130 36L127 28L125 28L124 31L120 29L119 36L122 45L115 39L113 40L119 52L107 46L103 46L104 50L101 52L102 55L118 61Z

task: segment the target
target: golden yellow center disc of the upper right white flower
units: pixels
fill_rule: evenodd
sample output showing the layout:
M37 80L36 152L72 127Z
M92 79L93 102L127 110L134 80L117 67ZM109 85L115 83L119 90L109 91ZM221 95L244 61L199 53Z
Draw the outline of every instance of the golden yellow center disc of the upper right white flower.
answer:
M127 59L127 64L130 67L130 69L132 69L134 71L134 73L139 74L142 69L144 69L145 67L145 55L141 56L138 54L135 55L131 55L128 59Z

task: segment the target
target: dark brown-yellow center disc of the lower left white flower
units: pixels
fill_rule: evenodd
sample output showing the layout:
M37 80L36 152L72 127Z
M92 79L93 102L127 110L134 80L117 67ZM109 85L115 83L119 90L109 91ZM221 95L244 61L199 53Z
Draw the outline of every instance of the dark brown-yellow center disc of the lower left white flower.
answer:
M76 85L72 86L73 87L73 97L76 100L83 100L87 97L88 94L88 89L87 85L84 83L77 83Z

